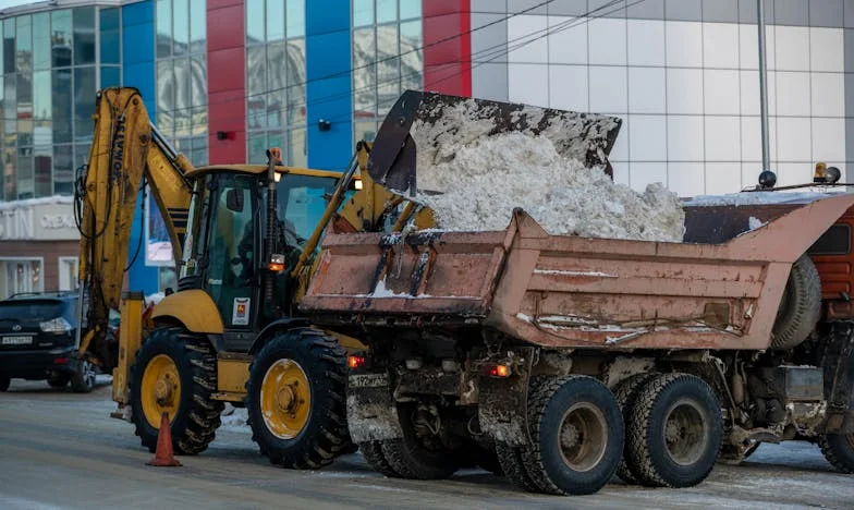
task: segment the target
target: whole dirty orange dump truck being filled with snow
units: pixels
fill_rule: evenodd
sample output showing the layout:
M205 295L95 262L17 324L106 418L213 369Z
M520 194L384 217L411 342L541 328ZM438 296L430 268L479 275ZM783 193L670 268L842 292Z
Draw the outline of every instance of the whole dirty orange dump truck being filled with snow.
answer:
M393 162L367 165L402 195L424 169L396 119L429 112L395 105L375 145ZM503 231L329 232L301 309L367 345L347 422L371 466L443 478L474 461L581 495L614 473L693 486L808 440L854 472L854 195L685 210L681 243L554 235L522 209Z

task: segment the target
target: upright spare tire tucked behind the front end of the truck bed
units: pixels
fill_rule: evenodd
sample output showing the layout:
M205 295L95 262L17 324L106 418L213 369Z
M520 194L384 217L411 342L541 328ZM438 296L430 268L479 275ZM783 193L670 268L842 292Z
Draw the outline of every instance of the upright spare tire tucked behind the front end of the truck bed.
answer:
M821 315L821 280L807 255L792 265L774 320L771 349L786 350L806 340Z

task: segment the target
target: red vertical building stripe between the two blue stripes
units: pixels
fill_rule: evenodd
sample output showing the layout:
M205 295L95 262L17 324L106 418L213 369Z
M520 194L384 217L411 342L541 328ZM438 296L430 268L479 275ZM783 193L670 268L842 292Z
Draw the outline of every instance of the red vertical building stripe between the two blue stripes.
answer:
M246 35L243 0L208 0L208 158L246 161ZM225 133L219 139L218 132Z

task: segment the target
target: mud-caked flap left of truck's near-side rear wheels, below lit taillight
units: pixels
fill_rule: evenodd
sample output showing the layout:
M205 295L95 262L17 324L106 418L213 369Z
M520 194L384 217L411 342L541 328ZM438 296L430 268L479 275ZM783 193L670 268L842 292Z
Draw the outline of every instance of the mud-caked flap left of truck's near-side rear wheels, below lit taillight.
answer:
M496 441L510 446L532 442L527 424L528 380L533 355L530 350L505 379L481 376L477 409L480 429Z

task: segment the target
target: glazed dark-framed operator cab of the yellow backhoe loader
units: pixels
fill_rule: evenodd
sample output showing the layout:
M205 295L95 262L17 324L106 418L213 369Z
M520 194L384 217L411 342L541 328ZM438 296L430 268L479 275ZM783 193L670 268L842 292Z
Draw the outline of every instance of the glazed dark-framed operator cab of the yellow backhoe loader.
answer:
M274 215L267 232L267 173L261 166L194 171L194 193L184 242L179 291L202 289L225 327L224 349L246 351L267 324L291 313L290 268L298 259L326 208L338 172L283 169L277 172ZM268 269L268 241L285 256L281 271ZM265 296L272 280L273 298Z

